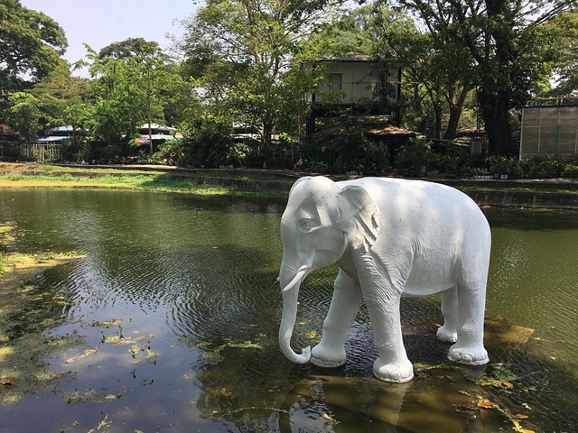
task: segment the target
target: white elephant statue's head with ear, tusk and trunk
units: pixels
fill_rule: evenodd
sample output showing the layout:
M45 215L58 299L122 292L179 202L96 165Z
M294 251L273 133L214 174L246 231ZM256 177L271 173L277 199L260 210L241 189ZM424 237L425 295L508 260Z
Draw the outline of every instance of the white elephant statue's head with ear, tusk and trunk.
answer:
M279 282L283 292L283 317L279 344L284 355L297 364L311 358L310 347L296 354L291 348L299 288L316 269L336 263L346 251L368 253L378 238L379 209L359 185L338 186L325 177L297 180L289 192L281 218L283 262Z

